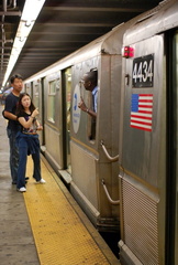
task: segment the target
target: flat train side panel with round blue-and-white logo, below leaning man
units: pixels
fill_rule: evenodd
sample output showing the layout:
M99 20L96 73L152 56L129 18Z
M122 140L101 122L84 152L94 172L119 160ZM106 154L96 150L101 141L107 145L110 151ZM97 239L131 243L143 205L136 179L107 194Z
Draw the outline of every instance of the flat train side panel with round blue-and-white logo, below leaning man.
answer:
M94 178L96 176L96 160L98 153L94 150L94 142L90 144L89 134L91 129L90 118L86 113L82 113L78 108L80 96L91 107L91 95L87 93L81 85L80 81L85 73L91 68L98 70L98 57L86 60L73 67L73 89L71 89L71 182L70 191L78 200L80 205L85 205L85 210L93 220L93 215L97 213L97 187ZM92 194L91 194L92 191Z

